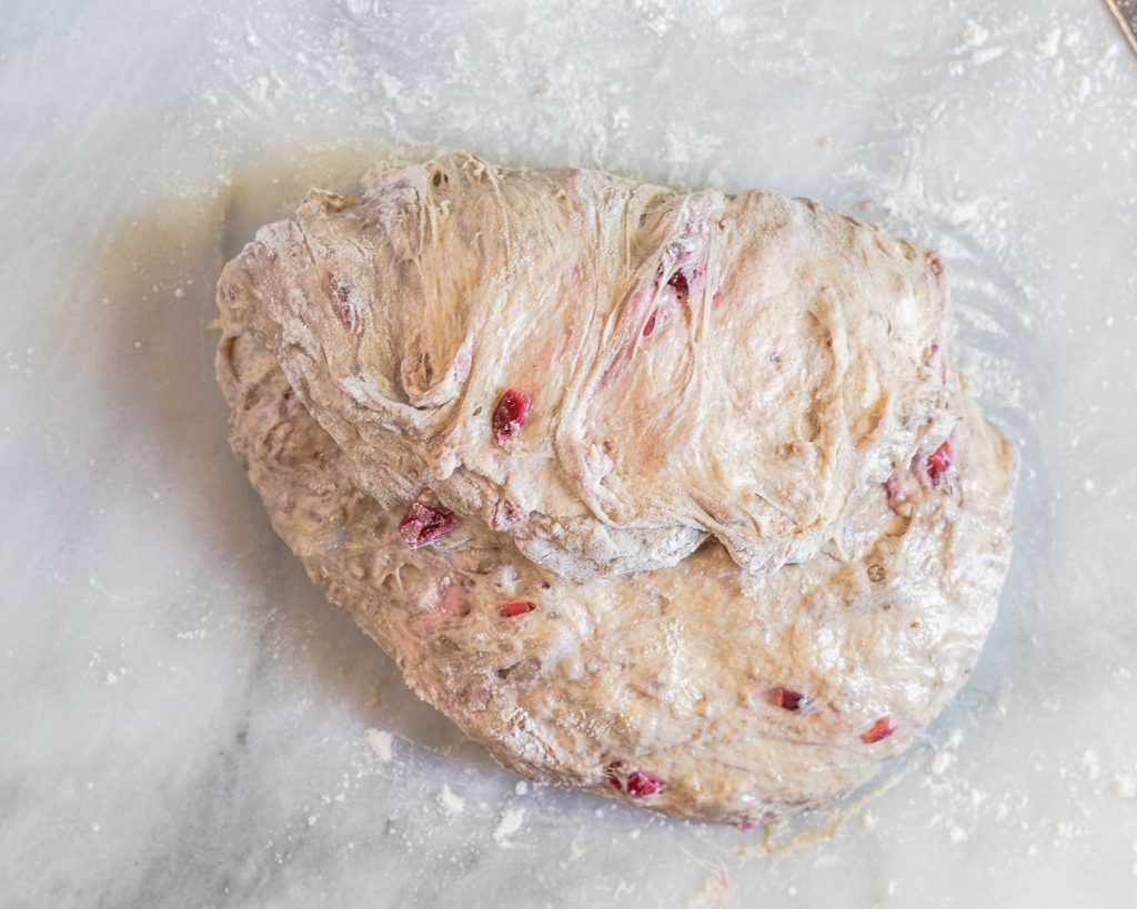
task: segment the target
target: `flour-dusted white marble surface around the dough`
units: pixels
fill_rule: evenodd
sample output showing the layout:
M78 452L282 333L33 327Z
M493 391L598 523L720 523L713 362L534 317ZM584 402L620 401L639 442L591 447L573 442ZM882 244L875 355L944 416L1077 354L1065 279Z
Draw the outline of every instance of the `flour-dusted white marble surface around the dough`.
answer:
M1097 0L6 3L0 904L1137 904L1135 99ZM1018 550L972 682L836 835L515 790L273 536L218 266L310 183L453 147L946 253Z

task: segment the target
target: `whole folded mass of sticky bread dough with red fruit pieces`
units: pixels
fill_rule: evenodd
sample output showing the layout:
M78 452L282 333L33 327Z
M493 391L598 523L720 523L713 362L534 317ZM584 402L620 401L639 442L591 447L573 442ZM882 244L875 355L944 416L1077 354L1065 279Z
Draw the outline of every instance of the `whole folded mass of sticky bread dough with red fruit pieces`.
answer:
M531 778L749 825L903 751L994 618L1015 456L943 278L812 202L453 155L263 228L217 368L420 695Z

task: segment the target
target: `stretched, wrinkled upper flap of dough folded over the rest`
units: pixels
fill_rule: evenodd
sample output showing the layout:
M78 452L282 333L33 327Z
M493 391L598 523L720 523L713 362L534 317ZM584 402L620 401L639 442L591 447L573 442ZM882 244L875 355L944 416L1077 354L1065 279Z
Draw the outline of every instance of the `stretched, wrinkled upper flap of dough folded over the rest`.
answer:
M454 153L313 192L219 295L376 501L429 490L576 581L708 536L805 561L960 419L940 261L773 193Z

